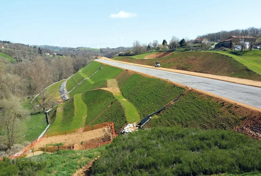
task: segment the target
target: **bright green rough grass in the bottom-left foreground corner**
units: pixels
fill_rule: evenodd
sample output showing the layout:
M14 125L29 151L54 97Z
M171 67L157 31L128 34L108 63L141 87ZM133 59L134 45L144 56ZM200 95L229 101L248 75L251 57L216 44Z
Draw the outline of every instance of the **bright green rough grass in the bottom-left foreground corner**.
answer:
M43 153L28 158L5 159L0 162L0 176L72 175L77 169L97 158L104 151L105 146L85 151L62 150L52 154Z

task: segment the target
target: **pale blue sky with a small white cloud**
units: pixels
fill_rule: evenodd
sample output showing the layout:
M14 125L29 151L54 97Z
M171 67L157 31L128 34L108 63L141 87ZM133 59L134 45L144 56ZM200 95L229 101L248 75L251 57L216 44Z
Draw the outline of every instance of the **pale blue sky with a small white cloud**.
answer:
M245 0L8 0L0 3L0 40L62 47L127 47L134 40L162 42L173 35L194 39L220 30L259 28L260 15L256 14L260 10L260 4Z

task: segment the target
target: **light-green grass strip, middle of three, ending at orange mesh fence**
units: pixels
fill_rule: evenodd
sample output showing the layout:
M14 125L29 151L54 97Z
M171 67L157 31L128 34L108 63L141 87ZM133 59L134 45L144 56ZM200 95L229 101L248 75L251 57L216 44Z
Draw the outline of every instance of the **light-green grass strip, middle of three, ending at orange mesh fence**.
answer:
M77 129L84 127L84 123L87 117L87 106L81 99L81 94L74 96L74 117L71 123L70 129Z

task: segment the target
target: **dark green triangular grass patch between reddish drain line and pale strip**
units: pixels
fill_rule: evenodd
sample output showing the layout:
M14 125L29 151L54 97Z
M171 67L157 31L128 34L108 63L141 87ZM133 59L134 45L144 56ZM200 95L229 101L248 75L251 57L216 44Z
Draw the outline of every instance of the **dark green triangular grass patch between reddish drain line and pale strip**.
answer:
M124 126L126 121L126 116L124 113L124 108L121 103L116 100L113 105L111 105L99 118L97 118L91 125L103 123L103 122L113 122L114 129L117 131L122 126Z

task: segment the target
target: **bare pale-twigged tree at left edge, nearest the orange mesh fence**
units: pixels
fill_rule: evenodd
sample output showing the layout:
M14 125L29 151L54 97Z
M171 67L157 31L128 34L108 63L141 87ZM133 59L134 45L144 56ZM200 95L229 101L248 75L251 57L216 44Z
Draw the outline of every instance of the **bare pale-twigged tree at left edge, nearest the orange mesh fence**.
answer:
M0 100L0 124L6 137L3 144L8 149L17 142L20 123L27 115L27 111L23 109L17 97L9 96L8 99Z

